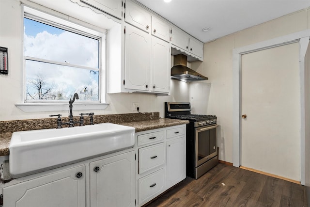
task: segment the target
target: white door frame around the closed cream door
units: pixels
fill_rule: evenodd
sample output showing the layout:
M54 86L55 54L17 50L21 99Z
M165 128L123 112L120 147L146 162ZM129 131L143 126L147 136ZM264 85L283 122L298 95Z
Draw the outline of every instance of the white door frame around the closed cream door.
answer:
M309 45L310 30L304 30L233 49L233 166L240 167L241 161L241 55L299 42L300 77L300 183L305 185L305 143L310 134L309 78L305 76L305 55Z

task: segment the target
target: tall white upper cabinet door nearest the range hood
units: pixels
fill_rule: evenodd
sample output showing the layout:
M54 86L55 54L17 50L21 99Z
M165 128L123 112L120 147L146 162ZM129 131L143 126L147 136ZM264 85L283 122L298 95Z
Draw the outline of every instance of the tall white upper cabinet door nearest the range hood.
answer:
M170 45L152 36L151 77L154 92L169 93L170 90Z

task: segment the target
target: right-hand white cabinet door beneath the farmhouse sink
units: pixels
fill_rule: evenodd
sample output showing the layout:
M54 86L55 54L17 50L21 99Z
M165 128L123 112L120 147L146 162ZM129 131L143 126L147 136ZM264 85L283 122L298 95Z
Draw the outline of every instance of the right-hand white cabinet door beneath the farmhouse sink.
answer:
M91 207L135 206L135 152L90 163Z

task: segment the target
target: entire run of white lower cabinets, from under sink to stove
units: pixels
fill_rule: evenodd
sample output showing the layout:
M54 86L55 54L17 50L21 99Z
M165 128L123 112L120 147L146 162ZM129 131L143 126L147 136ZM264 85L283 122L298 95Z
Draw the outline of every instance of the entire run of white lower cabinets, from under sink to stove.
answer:
M132 149L0 183L3 207L140 207L185 179L185 136L138 132Z

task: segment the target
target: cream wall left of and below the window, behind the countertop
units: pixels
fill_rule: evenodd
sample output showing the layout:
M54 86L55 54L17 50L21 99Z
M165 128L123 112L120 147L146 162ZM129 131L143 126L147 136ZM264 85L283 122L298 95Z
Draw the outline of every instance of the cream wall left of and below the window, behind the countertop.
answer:
M25 1L25 0L24 0ZM26 1L27 2L27 1ZM9 75L0 75L0 121L47 118L52 112L24 112L15 106L22 96L22 11L19 0L0 0L0 46L8 48ZM91 10L89 10L91 11ZM83 20L82 17L80 20ZM173 61L173 60L172 60ZM171 96L152 94L108 94L105 110L92 110L95 114L132 113L132 103L140 103L140 111L159 111L164 117L165 101L189 101L189 84L171 80ZM76 111L74 115L82 111ZM89 111L88 111L89 112ZM68 111L61 112L63 116Z

